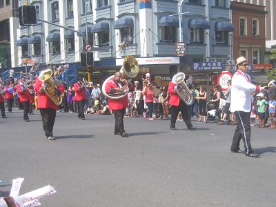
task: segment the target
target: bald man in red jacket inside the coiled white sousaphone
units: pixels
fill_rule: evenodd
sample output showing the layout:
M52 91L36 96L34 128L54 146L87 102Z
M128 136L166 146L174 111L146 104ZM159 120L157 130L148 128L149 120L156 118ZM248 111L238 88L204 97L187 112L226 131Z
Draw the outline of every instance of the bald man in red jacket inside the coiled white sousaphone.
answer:
M110 79L106 83L106 93L112 94L115 92L123 92L126 82L121 80L121 72L115 72L115 77ZM115 115L115 135L121 135L121 137L128 137L124 129L124 114L126 108L128 108L128 97L125 96L121 99L110 99L108 98L108 107Z

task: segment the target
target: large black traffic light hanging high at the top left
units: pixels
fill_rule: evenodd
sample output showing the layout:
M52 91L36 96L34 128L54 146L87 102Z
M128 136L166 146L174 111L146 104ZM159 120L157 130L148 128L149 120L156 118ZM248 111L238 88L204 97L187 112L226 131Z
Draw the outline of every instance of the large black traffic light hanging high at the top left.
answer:
M21 26L30 26L37 23L37 12L34 5L19 7L19 23Z

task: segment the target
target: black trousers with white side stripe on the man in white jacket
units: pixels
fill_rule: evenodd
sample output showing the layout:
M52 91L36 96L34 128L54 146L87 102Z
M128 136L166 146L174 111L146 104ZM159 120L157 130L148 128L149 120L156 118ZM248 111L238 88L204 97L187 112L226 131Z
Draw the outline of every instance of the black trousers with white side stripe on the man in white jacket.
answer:
M231 150L237 151L239 149L239 141L242 139L242 141L244 141L244 149L246 152L253 152L250 144L250 112L236 111L234 114L237 119L237 128L234 133Z

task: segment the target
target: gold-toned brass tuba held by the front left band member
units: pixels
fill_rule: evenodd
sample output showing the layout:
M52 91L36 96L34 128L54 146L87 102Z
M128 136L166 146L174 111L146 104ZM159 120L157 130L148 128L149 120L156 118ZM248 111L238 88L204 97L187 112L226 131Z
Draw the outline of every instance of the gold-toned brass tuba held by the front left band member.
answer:
M39 75L39 80L41 80L44 84L48 84L48 88L44 88L46 95L57 105L61 105L62 95L56 95L55 90L57 86L55 86L55 79L53 77L53 72L51 69L43 70Z

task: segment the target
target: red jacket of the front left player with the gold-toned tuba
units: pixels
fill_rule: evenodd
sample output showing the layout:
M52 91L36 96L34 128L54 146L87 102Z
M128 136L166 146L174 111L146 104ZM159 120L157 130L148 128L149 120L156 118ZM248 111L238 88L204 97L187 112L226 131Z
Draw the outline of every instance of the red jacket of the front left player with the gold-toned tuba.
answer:
M52 102L52 100L48 97L48 95L46 95L46 93L40 92L42 88L42 81L38 78L35 80L34 88L37 92L37 108L53 108L55 110L59 109L59 106ZM57 86L57 88L61 91L61 94L64 92L64 87L62 84Z

